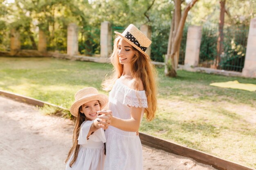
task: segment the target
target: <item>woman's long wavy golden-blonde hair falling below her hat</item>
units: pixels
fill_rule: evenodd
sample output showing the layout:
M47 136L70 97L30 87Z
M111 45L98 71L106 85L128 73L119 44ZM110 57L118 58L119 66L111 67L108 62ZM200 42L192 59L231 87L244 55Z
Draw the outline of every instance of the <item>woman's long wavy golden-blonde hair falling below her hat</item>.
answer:
M124 72L124 65L119 63L119 57L117 55L118 43L121 37L115 38L113 53L110 55L110 60L114 66L112 75L105 79L102 83L103 89L110 91L115 84L115 81L121 77ZM135 56L131 61L131 73L132 77L135 79L141 79L143 83L144 90L146 91L146 96L148 100L148 108L145 108L146 119L151 121L155 117L155 112L157 110L157 86L155 78L157 77L155 66L151 63L151 59L135 49ZM136 81L136 90L139 88L138 81Z

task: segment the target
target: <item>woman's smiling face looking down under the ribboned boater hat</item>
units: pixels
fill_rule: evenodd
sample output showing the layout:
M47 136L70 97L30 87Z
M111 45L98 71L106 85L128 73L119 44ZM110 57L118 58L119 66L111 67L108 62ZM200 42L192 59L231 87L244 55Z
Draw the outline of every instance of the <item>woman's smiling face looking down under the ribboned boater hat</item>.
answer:
M121 38L118 42L117 55L120 64L130 64L135 52L132 49L132 46L126 42L126 40Z

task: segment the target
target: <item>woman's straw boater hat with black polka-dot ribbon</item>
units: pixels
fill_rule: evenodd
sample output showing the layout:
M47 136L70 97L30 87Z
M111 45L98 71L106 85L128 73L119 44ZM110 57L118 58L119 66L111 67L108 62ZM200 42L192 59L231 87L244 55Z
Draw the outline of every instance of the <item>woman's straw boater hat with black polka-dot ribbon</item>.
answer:
M124 40L134 46L135 49L149 57L145 51L150 46L151 41L146 37L146 35L141 33L141 31L139 31L136 26L130 24L123 33L119 33L117 31L115 31L115 33L121 38L124 38Z

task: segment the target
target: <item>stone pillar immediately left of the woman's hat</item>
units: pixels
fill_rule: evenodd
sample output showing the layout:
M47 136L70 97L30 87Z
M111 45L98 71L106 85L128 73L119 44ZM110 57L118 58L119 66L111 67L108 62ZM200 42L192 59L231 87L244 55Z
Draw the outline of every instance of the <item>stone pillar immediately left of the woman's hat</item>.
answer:
M112 52L112 29L110 22L101 22L101 58L106 59Z

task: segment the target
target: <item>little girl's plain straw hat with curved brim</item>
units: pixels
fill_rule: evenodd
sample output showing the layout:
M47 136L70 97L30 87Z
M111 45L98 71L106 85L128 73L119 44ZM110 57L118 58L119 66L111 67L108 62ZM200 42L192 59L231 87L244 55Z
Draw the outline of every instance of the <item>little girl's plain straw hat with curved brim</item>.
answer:
M108 96L99 94L93 87L83 88L76 92L75 102L70 107L70 113L77 117L80 106L92 100L99 100L101 108L104 108L108 103Z

